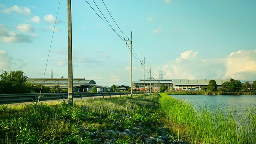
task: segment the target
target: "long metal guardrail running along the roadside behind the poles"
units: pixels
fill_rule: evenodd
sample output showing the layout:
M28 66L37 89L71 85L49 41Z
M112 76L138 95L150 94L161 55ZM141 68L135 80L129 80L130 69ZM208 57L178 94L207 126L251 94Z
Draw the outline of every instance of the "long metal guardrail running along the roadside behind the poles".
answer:
M143 92L133 92L133 94L143 94ZM73 98L95 97L103 98L109 96L130 96L130 92L102 92L102 93L73 93ZM22 102L37 102L39 94L0 94L0 104L14 104ZM68 98L68 93L44 93L40 96L40 101L63 100Z

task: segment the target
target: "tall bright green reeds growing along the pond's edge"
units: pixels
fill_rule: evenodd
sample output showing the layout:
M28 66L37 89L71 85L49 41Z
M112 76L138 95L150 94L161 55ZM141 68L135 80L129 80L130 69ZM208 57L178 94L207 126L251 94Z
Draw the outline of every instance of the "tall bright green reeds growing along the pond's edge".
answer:
M167 94L161 94L160 106L174 124L173 132L182 132L182 139L205 144L256 143L255 108L247 109L246 116L241 116L237 124L230 110L225 114L221 109L210 110L207 106L196 110L190 102Z

